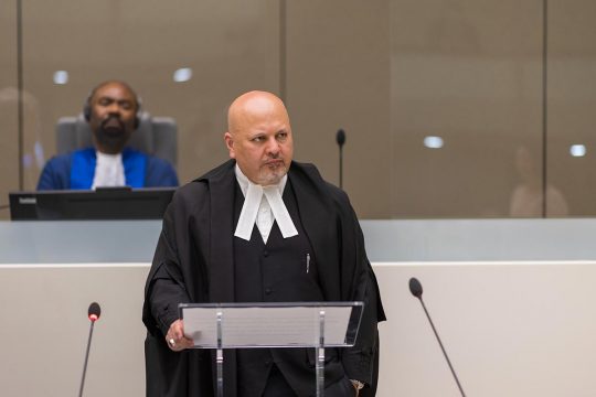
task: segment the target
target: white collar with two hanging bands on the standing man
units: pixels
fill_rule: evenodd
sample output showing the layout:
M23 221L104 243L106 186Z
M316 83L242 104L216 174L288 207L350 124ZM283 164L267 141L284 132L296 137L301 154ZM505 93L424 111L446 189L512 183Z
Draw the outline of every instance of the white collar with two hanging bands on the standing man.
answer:
M297 236L298 230L296 230L294 222L288 213L288 208L286 208L286 204L284 204L284 200L281 198L281 193L286 187L288 175L284 175L276 185L262 186L251 182L242 172L238 164L235 167L235 173L245 198L234 236L247 242L251 240L263 195L265 195L266 201L272 208L274 218L277 222L284 238Z

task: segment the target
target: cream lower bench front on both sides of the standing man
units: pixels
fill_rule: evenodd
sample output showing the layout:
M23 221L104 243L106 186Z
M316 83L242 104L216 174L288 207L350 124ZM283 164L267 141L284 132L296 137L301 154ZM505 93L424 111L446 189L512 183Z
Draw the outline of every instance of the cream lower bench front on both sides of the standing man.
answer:
M102 304L85 393L143 396L140 321L148 264L0 266L2 396L75 396L89 322ZM594 261L373 264L389 318L380 324L379 397L456 397L424 300L464 390L482 397L596 394ZM20 337L20 339L19 339Z

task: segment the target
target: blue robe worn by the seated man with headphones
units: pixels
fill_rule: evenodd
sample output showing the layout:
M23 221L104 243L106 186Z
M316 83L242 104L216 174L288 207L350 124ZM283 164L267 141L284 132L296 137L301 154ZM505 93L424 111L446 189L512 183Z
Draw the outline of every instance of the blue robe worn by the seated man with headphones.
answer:
M94 148L56 155L43 168L38 190L88 190L93 184L96 163ZM123 164L127 186L178 186L175 171L166 160L125 148Z

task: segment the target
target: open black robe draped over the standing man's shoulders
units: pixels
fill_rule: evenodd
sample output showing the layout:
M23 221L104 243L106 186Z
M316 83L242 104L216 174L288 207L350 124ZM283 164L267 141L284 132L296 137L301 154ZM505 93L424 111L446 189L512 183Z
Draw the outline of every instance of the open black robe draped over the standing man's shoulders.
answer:
M180 187L163 217L142 309L147 396L214 395L213 352L172 352L164 334L178 319L178 303L234 302L234 165L230 160ZM376 324L385 314L355 213L347 194L323 181L315 165L292 162L288 179L326 300L364 301L356 344L340 352L348 377L374 390ZM236 396L235 367L235 352L224 351L226 397Z

